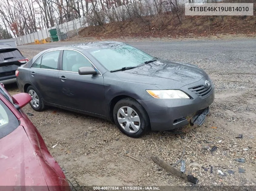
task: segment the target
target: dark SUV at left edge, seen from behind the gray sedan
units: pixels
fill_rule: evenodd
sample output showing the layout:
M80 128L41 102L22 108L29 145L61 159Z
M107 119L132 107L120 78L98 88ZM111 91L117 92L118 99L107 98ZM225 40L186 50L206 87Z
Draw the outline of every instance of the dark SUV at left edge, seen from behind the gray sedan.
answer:
M15 47L0 44L0 82L10 84L16 82L16 69L28 62L22 53Z

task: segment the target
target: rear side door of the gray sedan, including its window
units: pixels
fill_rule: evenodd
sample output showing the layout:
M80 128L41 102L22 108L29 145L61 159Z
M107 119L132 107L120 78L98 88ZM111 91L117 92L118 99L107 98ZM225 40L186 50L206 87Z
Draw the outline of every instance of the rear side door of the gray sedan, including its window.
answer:
M29 80L48 103L59 104L58 62L60 50L43 54L29 70Z

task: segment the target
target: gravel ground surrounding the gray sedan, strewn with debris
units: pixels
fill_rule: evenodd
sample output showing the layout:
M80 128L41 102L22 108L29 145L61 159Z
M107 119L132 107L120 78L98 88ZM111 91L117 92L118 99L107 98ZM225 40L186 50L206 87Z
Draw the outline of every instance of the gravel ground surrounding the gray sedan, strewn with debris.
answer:
M27 45L19 49L32 58L42 49L59 44ZM103 119L54 107L35 112L26 106L24 111L34 114L29 118L58 163L81 185L191 185L150 159L155 155L174 164L185 148L185 173L197 177L199 185L255 186L255 38L130 44L154 56L190 62L206 70L216 88L206 122L200 127L149 132L134 139ZM6 88L11 94L18 93L15 85ZM240 133L243 138L235 138ZM214 147L217 149L211 152ZM245 162L236 161L238 158L244 158Z

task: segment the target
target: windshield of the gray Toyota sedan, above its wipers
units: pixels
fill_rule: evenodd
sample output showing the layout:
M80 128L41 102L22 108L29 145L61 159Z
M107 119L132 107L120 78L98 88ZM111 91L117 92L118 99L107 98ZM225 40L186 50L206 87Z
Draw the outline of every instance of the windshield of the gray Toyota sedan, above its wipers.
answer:
M138 66L155 59L153 56L127 44L91 49L89 53L109 71Z

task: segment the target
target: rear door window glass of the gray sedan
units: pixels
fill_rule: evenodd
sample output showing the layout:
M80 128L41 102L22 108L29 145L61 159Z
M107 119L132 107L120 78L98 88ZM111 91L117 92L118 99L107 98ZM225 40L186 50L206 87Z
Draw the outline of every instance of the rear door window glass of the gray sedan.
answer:
M58 58L60 50L45 53L32 66L32 68L58 69Z

